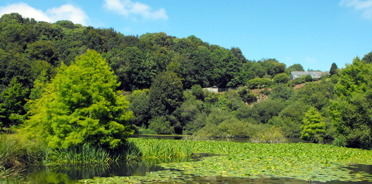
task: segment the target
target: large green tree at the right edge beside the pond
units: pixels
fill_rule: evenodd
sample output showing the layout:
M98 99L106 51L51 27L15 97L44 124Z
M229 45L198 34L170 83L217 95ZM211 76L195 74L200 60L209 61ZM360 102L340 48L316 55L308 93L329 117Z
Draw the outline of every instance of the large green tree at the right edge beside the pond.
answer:
M372 148L372 66L359 58L339 73L335 85L338 99L331 101L332 122L347 147Z

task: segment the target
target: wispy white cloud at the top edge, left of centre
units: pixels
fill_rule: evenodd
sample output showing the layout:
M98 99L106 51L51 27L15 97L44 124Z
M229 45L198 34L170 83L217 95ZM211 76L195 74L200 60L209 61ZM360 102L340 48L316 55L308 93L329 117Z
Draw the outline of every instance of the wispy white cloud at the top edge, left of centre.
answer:
M146 4L131 2L130 0L104 0L104 2L104 8L124 15L125 17L139 15L145 19L151 20L168 19L167 12L164 8L152 11L151 7Z

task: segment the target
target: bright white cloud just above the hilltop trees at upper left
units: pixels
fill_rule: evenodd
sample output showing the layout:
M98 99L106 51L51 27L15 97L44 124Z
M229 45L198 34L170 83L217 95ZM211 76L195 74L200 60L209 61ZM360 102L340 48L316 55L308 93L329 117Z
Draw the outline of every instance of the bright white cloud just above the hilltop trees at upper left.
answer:
M37 10L26 3L15 3L0 7L0 15L13 12L19 13L24 17L35 18L38 21L55 22L57 20L71 20L75 24L84 26L89 21L89 17L81 8L69 4L50 8L46 12Z

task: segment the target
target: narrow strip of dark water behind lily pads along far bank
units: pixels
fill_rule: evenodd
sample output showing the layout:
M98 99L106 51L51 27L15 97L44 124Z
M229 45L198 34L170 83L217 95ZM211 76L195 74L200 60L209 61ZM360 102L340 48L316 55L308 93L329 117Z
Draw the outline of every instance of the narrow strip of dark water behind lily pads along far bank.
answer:
M141 139L165 139L165 140L197 140L197 141L225 141L225 142L235 142L235 143L251 143L250 138L203 138L194 137L188 135L132 135L132 137L137 137ZM298 137L287 137L285 143L311 143L310 141L304 141ZM332 140L324 139L325 144L332 144Z

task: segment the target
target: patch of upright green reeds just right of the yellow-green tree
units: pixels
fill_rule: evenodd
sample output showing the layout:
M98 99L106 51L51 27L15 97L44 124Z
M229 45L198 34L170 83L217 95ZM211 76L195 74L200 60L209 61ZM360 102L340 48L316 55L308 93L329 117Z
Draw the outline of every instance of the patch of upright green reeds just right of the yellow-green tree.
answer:
M129 139L137 145L142 158L181 158L190 157L192 143L188 140L142 140Z

